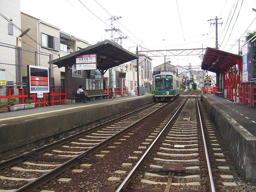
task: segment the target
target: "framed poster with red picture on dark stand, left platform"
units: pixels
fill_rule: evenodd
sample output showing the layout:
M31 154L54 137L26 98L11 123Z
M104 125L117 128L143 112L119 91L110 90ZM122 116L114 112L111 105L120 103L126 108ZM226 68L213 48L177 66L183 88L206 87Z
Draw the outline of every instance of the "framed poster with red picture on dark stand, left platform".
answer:
M49 93L49 68L28 65L30 93Z

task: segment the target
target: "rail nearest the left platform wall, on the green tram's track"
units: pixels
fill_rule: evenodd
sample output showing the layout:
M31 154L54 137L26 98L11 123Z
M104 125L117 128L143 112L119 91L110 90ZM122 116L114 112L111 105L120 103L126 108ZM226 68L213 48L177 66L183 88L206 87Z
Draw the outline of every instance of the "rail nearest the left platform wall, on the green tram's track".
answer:
M24 154L21 154L21 155L19 155L19 156L12 157L11 159L5 160L5 161L3 161L3 162L0 163L0 170L6 168L6 167L8 167L8 166L11 166L11 165L13 165L13 164L16 164L16 163L18 163L18 162L20 162L20 161L24 161L24 160L30 158L31 156L38 155L38 154L43 153L43 152L45 152L45 151L47 151L47 150L49 150L49 149L52 149L52 148L57 147L57 146L59 146L59 145L62 145L62 144L64 144L64 143L68 142L68 141L74 140L74 139L76 139L76 138L78 138L78 137L81 137L81 136L83 136L83 135L85 135L85 134L91 133L91 132L93 132L93 131L95 131L95 130L98 130L98 129L104 127L104 126L107 126L108 124L112 124L112 123L115 122L115 121L118 121L118 120L123 119L123 118L125 118L125 117L127 117L127 116L130 116L130 115L132 115L132 114L134 114L134 113L138 113L138 112L144 110L145 108L149 108L149 107L153 106L154 104L155 104L155 103L152 103L152 104L150 104L150 105L148 105L148 106L145 106L145 107L143 107L143 108L140 108L140 109L138 109L138 110L135 110L135 111L132 111L132 112L130 112L130 113L128 113L128 114L125 114L125 115L123 115L123 116L120 116L120 117L117 117L117 118L115 118L115 119L112 119L112 120L110 120L110 121L108 121L108 122L106 122L106 123L104 123L104 124L100 124L100 125L97 125L97 126L93 126L92 128L89 128L89 129L86 129L86 130L81 131L81 132L79 132L79 133L76 133L76 134L74 134L74 135L68 136L68 137L63 138L63 139L61 139L61 140L58 140L58 141L56 141L56 142L54 142L54 143L50 143L50 144L48 144L48 145L42 146L42 147L37 148L37 149L35 149L35 150L33 150L33 151L29 151L29 152L24 153ZM80 126L83 126L83 125L80 125Z

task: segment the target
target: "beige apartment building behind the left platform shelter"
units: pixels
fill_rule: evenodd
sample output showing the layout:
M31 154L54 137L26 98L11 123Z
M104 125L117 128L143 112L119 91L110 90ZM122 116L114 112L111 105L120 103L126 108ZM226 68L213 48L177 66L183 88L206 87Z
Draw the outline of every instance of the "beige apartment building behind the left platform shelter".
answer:
M53 54L53 60L68 55L82 48L88 47L87 41L79 39L68 33L60 31L60 28L46 23L40 19L21 12L21 29L30 28L28 35L35 39L36 44L27 36L22 37L22 47L48 54ZM22 52L22 65L38 65L49 67L49 56L34 53ZM27 69L22 68L23 81L26 82ZM76 74L76 69L72 68L72 74ZM53 68L54 86L65 86L65 69L54 66ZM79 76L77 76L79 78Z

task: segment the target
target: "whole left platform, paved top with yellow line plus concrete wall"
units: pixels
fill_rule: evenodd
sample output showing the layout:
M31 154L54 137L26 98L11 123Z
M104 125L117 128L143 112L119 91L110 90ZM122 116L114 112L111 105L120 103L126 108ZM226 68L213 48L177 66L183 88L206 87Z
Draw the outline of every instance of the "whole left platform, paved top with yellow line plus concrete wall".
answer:
M154 102L153 95L119 97L0 114L0 159L31 150Z

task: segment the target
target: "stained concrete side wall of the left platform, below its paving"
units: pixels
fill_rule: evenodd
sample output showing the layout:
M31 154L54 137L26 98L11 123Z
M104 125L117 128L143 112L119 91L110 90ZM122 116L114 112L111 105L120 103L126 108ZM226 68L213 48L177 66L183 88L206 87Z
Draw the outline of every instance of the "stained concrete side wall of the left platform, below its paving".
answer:
M15 124L2 125L0 127L0 157L12 156L22 151L42 146L46 142L52 142L60 137L67 136L70 132L83 130L86 126L96 124L95 122L107 121L119 113L144 106L153 102L153 95L134 98L132 100L116 101L98 107L83 108L72 111L63 111L35 118L33 120L21 121Z

